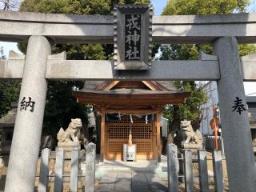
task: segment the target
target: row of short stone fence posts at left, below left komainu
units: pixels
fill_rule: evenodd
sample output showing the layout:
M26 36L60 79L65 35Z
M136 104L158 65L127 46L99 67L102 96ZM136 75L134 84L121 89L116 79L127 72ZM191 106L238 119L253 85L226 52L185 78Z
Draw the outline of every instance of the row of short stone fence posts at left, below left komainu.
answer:
M95 157L96 157L96 145L90 143L86 146L86 158L82 158L85 161L85 174L82 174L84 171L79 171L79 150L74 149L70 156L70 167L69 171L65 169L66 155L65 151L62 149L56 150L56 158L54 165L54 172L49 173L50 170L50 149L43 149L41 155L40 163L40 174L38 179L38 192L46 192L49 190L49 182L54 182L54 191L63 191L63 184L68 183L69 185L65 186L69 188L69 191L75 192L78 191L78 182L84 182L85 192L94 191L94 181L95 181ZM70 153L70 151L69 151ZM81 167L80 167L81 168ZM66 173L68 172L68 173ZM69 178L69 179L66 179ZM81 188L82 185L79 187Z

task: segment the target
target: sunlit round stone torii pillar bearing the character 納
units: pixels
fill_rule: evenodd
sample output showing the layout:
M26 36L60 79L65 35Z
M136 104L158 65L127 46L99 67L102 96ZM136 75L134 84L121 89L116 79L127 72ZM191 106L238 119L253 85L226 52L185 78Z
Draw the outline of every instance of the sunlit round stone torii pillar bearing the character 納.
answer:
M46 61L50 52L51 46L45 37L30 37L18 100L5 192L34 191L46 103Z

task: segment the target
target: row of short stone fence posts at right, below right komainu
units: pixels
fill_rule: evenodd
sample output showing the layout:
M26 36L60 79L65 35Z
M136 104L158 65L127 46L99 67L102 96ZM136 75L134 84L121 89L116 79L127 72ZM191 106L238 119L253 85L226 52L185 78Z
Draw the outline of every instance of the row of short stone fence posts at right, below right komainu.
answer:
M212 153L206 150L193 150L193 153L182 150L178 153L177 146L170 144L167 146L167 159L170 192L179 191L179 182L185 182L186 192L192 192L197 179L200 191L204 192L210 191L213 183L215 191L224 191L227 185L226 169L223 169L226 159L222 158L221 150L213 150Z

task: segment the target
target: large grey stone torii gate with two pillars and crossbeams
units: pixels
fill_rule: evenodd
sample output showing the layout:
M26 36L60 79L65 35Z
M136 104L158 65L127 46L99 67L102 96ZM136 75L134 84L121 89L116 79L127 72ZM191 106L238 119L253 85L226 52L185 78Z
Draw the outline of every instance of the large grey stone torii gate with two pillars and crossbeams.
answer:
M51 42L114 43L114 16L0 11L0 41L27 42L26 58L0 62L0 78L22 79L6 192L34 191L42 119L50 80L214 80L218 82L230 191L254 192L256 168L243 81L256 81L256 56L238 56L256 42L256 14L155 16L153 43L211 43L216 56L199 61L154 61L150 70L114 70L111 61L69 61L51 55ZM246 106L246 105L245 105Z

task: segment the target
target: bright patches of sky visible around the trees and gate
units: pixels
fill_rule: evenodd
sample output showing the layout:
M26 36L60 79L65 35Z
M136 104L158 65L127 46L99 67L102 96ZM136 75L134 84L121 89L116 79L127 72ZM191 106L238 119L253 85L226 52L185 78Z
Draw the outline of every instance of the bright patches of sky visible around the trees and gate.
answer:
M167 0L151 0L154 6L154 15L161 15L163 8L166 6ZM250 6L247 8L248 12L256 12L256 0L250 1ZM17 43L15 42L0 42L0 47L4 47L5 55L8 58L9 50L19 52ZM244 82L246 95L256 96L256 82Z

